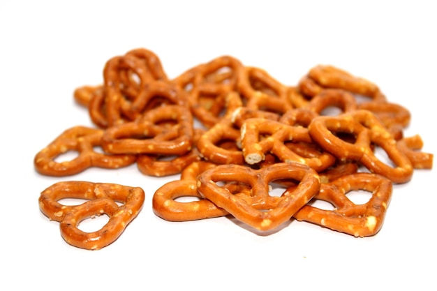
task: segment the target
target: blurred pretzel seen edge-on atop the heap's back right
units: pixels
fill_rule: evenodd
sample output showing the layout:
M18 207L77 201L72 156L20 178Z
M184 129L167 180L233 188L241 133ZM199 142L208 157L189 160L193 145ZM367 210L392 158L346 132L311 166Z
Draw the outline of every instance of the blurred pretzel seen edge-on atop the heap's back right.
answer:
M385 95L373 82L354 76L346 70L334 66L315 66L299 81L299 89L309 96L315 96L326 88L344 89L353 94L367 96L378 102L386 100Z

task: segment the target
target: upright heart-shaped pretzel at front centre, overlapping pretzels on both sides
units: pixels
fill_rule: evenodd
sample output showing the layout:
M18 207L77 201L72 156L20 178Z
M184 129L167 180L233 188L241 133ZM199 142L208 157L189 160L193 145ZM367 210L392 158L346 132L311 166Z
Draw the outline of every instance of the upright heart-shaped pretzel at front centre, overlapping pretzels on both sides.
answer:
M274 181L297 181L282 195L270 195ZM251 189L247 193L230 193L221 183L237 182ZM228 211L239 221L258 230L273 230L288 221L320 189L316 171L299 163L275 163L254 170L244 165L218 165L198 177L202 197Z

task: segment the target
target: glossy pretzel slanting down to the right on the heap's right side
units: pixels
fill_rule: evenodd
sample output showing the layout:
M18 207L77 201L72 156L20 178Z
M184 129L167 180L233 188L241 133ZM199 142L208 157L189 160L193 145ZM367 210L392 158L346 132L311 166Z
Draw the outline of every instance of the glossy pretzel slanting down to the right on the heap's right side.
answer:
M399 151L396 140L379 119L367 110L355 110L336 117L316 117L309 125L309 133L320 147L342 161L359 161L371 172L394 183L406 183L413 176L413 165L408 157ZM354 135L355 142L342 140L337 136L339 133ZM371 144L383 149L394 167L380 161Z

